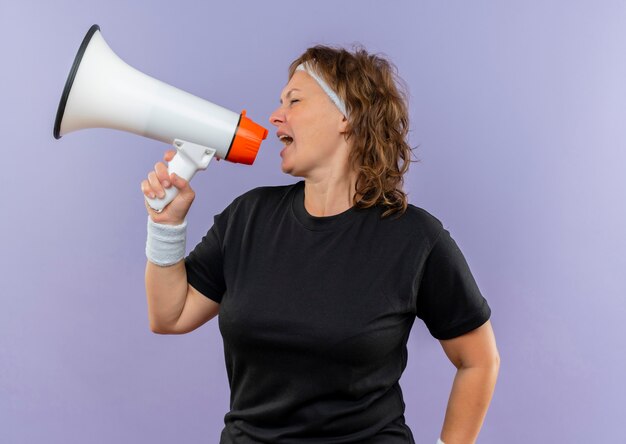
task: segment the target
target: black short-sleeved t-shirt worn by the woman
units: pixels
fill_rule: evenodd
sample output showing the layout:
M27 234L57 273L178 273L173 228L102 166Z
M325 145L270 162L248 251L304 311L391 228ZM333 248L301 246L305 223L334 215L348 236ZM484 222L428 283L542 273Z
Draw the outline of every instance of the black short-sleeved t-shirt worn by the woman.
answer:
M398 380L415 317L449 339L491 314L427 211L314 217L304 181L236 198L185 259L220 303L231 389L220 443L413 443Z

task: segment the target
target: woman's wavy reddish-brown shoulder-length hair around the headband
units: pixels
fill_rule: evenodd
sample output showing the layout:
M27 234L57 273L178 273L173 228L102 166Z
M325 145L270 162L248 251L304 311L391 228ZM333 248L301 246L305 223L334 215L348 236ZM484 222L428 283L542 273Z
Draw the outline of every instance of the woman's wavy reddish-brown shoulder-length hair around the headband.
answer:
M349 52L317 45L291 63L289 79L303 62L309 62L346 104L346 138L352 142L349 162L358 172L353 204L357 208L380 204L386 207L382 217L400 216L408 205L402 185L412 148L407 142L408 93L397 68L360 46Z

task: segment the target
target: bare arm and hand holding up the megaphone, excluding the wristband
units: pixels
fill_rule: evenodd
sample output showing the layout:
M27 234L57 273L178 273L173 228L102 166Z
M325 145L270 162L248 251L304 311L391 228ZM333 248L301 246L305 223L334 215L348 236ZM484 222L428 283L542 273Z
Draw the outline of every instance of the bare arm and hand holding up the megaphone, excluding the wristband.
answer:
M165 153L170 161L175 151ZM193 203L195 193L189 183L176 175L168 175L162 162L155 165L148 179L141 183L144 195L162 197L164 188L175 186L176 198L162 212L155 212L146 202L146 209L153 222L165 225L180 225ZM195 330L214 318L219 304L200 293L187 283L185 261L174 265L159 266L150 261L146 264L146 297L150 329L160 334L183 334Z

